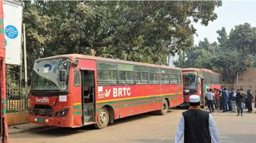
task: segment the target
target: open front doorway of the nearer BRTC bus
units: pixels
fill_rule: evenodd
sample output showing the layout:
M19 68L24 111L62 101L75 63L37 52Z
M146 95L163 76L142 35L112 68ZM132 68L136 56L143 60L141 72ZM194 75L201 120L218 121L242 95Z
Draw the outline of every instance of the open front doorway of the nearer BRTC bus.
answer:
M93 70L81 70L83 124L95 122L95 79Z

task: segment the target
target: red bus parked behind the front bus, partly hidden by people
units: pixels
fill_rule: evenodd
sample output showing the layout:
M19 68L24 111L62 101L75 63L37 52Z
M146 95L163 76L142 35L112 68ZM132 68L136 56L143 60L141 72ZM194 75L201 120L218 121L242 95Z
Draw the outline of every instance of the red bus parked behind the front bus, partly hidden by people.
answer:
M220 89L221 75L203 68L182 69L184 103L189 102L192 94L200 95L201 106L204 107L206 89Z

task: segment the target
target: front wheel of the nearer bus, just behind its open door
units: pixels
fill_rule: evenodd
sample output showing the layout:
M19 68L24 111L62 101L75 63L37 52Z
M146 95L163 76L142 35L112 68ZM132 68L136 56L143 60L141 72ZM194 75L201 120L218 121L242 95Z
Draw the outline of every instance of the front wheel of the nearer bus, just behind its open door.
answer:
M94 124L95 128L102 129L108 126L109 122L109 112L107 107L102 107L98 112L98 122Z

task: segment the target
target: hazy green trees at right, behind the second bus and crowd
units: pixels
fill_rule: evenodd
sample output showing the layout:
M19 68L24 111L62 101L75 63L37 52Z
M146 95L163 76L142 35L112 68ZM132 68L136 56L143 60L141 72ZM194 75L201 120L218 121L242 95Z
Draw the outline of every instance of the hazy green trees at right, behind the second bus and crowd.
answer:
M182 68L222 70L227 79L255 66L256 27L245 23L235 26L228 36L225 27L217 33L219 43L209 43L205 38L198 46L185 50L175 65Z

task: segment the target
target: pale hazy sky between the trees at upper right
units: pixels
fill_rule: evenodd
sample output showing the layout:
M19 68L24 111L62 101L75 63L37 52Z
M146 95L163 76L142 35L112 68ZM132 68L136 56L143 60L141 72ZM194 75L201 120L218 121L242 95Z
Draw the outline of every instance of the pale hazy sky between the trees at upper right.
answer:
M256 27L256 1L222 1L222 6L215 9L218 19L209 22L208 26L195 24L198 36L194 36L195 44L208 38L209 41L217 41L216 31L225 27L227 33L234 26L248 22Z

